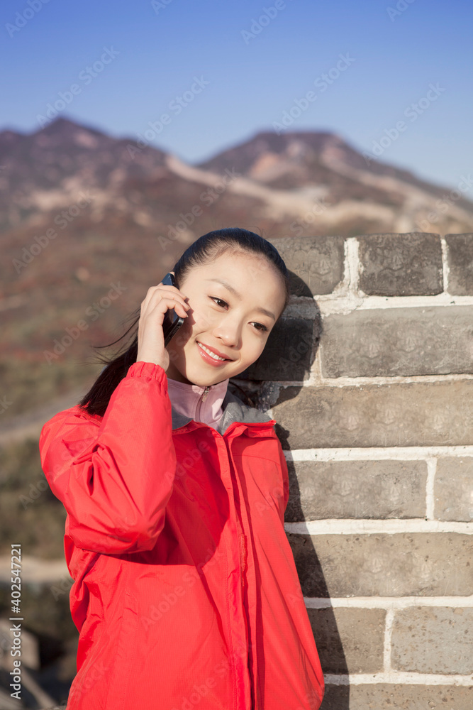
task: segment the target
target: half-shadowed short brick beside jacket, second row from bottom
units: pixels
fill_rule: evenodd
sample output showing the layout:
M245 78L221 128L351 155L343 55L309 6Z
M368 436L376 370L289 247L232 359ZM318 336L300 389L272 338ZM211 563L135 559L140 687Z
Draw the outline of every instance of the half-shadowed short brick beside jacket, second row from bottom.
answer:
M324 673L383 670L384 609L308 608Z

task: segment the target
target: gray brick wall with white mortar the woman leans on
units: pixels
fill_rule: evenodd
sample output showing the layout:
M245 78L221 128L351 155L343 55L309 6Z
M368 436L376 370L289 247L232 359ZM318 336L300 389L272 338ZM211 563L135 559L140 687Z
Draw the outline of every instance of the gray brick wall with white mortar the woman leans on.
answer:
M264 356L323 710L473 708L473 234L272 240Z

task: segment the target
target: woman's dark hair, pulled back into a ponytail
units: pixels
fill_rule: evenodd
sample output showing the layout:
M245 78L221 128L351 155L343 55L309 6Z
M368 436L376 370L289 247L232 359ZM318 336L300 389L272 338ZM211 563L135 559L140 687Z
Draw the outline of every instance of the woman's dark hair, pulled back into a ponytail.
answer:
M170 269L170 271L174 271L177 288L179 288L179 283L184 282L187 273L189 273L192 268L205 266L207 263L210 263L229 250L236 253L252 252L272 262L274 268L279 271L284 281L286 295L282 309L283 312L289 302L290 295L289 274L286 264L281 256L279 256L277 249L275 249L267 239L263 239L259 234L247 231L247 229L229 227L228 229L209 231L208 234L204 234L204 236L199 237L193 244L188 246L186 251L184 251L176 262L174 268ZM282 312L279 317L281 317ZM107 345L92 346L94 350L108 348L126 338L128 334L130 334L128 341L133 337L131 344L128 344L128 341L126 341L126 344L113 356L107 356L101 353L96 355L96 360L104 363L106 367L104 367L98 378L96 378L89 392L87 392L79 402L79 406L86 410L87 413L101 417L104 416L113 391L115 391L118 383L126 376L128 368L136 362L138 356L138 322L140 320L140 314L141 305L126 318L126 321L133 319L133 322L120 338Z

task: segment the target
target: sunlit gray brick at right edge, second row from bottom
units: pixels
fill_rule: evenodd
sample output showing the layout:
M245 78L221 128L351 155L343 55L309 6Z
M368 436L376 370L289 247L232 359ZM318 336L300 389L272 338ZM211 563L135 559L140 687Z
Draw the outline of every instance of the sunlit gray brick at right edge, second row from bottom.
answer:
M396 611L391 665L413 673L473 673L473 609L413 606Z

